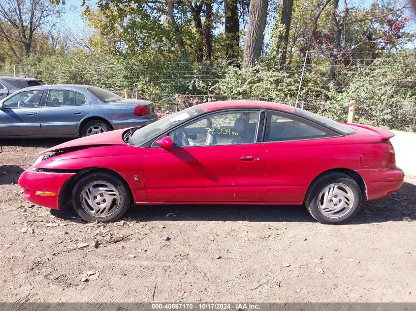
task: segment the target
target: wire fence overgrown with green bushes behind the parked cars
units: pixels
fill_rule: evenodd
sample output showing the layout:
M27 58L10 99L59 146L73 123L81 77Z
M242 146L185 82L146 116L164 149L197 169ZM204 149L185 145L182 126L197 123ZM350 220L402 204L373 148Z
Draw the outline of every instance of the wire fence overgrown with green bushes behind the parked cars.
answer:
M355 100L357 123L416 132L415 51L335 57L308 51L294 55L285 66L276 57L262 57L251 70L238 68L235 62L190 67L181 62L132 63L92 56L0 68L0 75L14 74L47 84L96 85L123 97L128 89L131 98L152 101L160 116L209 101L261 100L345 122L349 102Z

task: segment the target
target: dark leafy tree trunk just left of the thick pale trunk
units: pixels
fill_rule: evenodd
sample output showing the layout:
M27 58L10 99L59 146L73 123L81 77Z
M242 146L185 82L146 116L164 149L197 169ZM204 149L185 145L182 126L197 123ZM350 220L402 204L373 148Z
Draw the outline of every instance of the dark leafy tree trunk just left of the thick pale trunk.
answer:
M240 25L237 0L224 0L225 9L225 58L236 62L240 50Z

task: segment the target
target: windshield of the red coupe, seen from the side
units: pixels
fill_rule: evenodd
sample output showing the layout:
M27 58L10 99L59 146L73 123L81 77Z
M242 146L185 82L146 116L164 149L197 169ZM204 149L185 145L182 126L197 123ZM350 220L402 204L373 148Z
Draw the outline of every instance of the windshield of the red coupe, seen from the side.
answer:
M175 125L186 122L202 113L206 113L206 111L199 108L198 106L193 106L185 110L181 110L177 113L168 115L154 123L135 130L134 133L129 137L128 143L140 146L152 138L160 136Z

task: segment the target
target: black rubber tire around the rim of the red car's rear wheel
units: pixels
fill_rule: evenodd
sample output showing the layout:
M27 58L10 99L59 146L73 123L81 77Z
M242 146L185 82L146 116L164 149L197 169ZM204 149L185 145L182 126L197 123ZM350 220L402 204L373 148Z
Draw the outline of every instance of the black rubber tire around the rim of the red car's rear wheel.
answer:
M325 216L318 206L318 197L320 192L332 183L340 183L348 186L353 195L353 203L350 210L339 218L330 218ZM310 185L305 197L305 206L308 212L322 224L342 224L348 222L355 216L361 205L362 195L358 184L347 174L341 172L327 172L316 178Z

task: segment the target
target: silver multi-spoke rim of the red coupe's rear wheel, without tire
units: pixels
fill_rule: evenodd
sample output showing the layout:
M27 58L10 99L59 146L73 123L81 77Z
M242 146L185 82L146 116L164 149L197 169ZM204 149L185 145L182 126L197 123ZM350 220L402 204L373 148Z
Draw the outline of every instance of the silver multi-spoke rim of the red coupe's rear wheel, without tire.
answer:
M320 212L328 218L340 218L351 212L354 193L351 188L339 182L327 185L317 198Z

